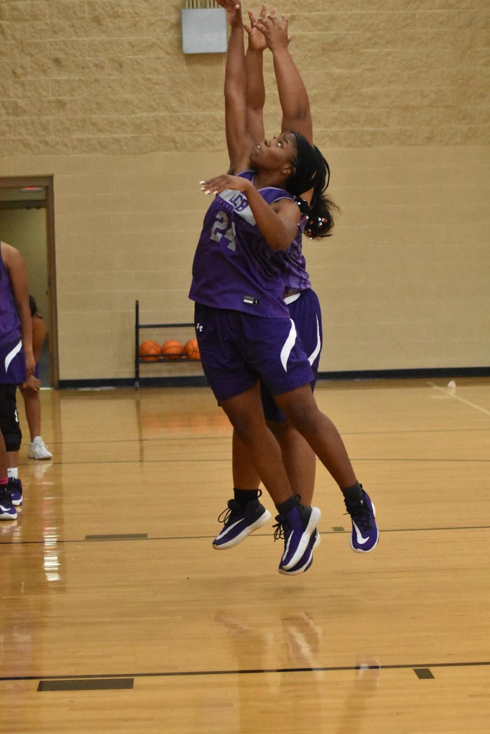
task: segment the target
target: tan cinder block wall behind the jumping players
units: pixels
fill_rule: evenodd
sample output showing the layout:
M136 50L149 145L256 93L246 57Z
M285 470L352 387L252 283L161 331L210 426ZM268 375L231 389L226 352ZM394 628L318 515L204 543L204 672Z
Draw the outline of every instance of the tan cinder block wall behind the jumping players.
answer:
M144 321L192 320L198 181L227 167L224 56L183 56L182 7L0 3L0 176L54 175L61 379L131 377L136 298ZM321 370L488 365L488 1L298 8L279 9L342 210L304 244ZM270 58L266 86L274 134Z

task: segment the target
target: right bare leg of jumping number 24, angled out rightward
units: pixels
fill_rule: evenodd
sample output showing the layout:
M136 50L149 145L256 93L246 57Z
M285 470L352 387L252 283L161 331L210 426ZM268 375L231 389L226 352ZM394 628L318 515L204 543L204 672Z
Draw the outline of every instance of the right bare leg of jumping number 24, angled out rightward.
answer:
M343 440L330 418L318 410L310 385L274 396L274 400L310 444L339 487L345 489L356 484L356 475Z

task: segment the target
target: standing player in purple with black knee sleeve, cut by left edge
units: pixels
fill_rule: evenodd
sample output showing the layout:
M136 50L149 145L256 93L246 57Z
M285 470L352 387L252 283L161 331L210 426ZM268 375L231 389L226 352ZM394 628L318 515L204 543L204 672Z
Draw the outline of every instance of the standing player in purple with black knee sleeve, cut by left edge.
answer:
M22 483L18 479L22 433L15 393L17 386L33 374L34 366L26 266L15 247L0 242L0 429L7 448L7 492L14 506L22 504Z

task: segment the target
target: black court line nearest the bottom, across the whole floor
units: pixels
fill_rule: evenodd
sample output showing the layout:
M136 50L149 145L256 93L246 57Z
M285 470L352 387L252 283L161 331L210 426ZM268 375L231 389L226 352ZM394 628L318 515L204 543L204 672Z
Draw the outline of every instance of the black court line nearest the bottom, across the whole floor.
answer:
M101 678L114 679L124 678L172 678L172 677L194 677L197 675L257 675L263 673L310 673L310 672L340 672L348 670L417 670L432 668L474 668L489 666L489 660L473 661L470 663L431 663L414 665L413 663L402 663L393 665L337 665L337 666L315 666L304 668L245 668L231 670L169 670L166 672L147 673L111 673L95 675L9 675L0 677L0 681L12 680L100 680Z

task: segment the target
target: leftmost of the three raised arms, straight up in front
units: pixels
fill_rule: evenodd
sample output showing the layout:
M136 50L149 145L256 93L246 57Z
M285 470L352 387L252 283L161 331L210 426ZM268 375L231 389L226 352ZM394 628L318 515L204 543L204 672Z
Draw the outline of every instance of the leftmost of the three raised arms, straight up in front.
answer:
M224 120L230 171L246 169L254 143L246 128L246 68L244 25L241 4L236 0L218 0L227 11L231 26L224 73Z

